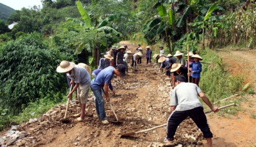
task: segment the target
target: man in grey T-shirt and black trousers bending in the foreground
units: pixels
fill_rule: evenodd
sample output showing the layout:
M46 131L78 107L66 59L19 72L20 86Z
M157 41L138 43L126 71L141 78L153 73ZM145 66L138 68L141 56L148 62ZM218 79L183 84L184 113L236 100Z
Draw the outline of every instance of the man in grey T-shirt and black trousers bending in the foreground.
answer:
M166 138L163 140L166 144L172 144L174 134L179 124L187 117L190 117L198 128L203 132L209 147L213 146L211 138L213 134L210 131L203 105L198 99L198 95L202 98L213 112L218 112L219 108L211 104L208 97L194 83L185 83L186 77L178 75L175 77L176 87L171 92L170 109L171 114L167 120Z

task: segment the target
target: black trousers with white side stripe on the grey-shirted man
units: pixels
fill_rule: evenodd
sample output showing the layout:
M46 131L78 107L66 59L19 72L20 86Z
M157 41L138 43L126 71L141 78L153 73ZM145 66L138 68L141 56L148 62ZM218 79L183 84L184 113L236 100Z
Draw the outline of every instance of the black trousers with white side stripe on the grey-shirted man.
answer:
M174 134L179 124L187 117L191 117L191 119L195 122L199 129L203 132L203 137L211 138L213 134L210 131L209 125L207 124L207 119L205 116L205 112L203 112L203 107L197 107L194 109L190 109L187 111L173 111L168 118L167 123L167 139L174 140Z

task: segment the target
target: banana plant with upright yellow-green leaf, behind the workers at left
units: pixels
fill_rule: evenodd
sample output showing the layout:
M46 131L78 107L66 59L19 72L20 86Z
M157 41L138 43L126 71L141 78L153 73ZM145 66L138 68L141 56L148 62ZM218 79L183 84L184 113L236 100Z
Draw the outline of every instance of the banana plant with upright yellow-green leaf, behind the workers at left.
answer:
M79 10L79 13L82 16L83 21L76 18L67 18L67 17L66 17L66 21L72 21L72 22L78 23L80 26L85 27L85 29L87 30L93 30L96 34L98 32L106 32L106 34L109 34L108 32L110 32L115 36L119 35L118 31L116 31L114 28L107 25L109 24L109 22L114 21L115 19L118 19L119 17L121 17L121 14L111 15L110 17L107 17L101 23L99 23L98 26L94 26L93 23L91 23L90 15L83 8L83 5L80 1L77 1L77 8ZM104 40L104 42L100 42L101 40ZM99 38L98 41L99 42L90 42L90 43L82 42L81 44L78 45L78 48L77 48L77 51L81 51L81 48L85 48L86 50L90 50L90 48L95 48L95 50L93 50L93 59L92 59L92 64L94 66L98 64L97 61L99 58L98 56L99 48L101 47L101 45L107 46L107 43L105 43L105 39Z

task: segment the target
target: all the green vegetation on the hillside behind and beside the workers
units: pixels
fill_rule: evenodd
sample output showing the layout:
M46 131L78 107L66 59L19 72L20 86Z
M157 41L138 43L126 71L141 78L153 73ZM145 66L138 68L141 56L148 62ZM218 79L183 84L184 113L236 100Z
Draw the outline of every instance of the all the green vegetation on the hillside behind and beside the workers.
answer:
M151 45L156 54L159 46L165 46L166 54L177 50L186 54L189 45L203 62L213 63L210 68L203 64L201 78L201 88L211 101L218 103L241 91L254 93L249 84L242 86L243 77L232 77L209 49L255 47L253 3L241 11L243 2L230 0L43 0L42 4L43 8L23 8L0 21L0 129L40 116L66 100L65 75L55 72L61 60L94 68L106 48L120 40ZM0 3L0 17L2 10ZM7 29L13 22L18 25Z

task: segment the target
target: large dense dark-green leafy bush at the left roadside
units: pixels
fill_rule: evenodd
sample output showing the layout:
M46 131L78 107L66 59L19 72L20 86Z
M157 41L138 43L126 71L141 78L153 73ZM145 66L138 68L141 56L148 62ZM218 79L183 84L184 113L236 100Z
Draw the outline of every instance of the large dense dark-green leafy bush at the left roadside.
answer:
M0 51L1 108L18 113L30 101L46 96L51 99L66 90L65 75L55 71L61 54L50 50L42 35L23 35L7 42Z

